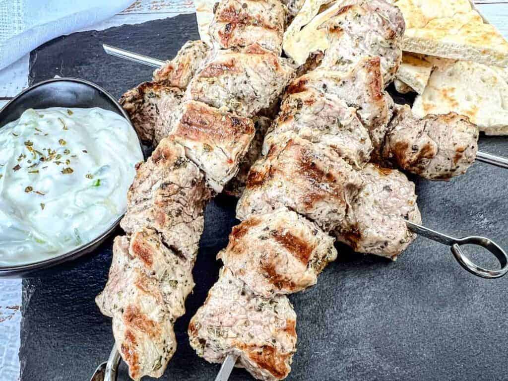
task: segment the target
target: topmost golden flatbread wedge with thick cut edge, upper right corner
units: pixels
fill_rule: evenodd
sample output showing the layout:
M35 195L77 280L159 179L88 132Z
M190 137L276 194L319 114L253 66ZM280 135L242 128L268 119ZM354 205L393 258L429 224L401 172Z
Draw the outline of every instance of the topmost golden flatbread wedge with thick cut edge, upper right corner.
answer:
M396 0L406 21L404 51L508 66L508 42L469 0Z

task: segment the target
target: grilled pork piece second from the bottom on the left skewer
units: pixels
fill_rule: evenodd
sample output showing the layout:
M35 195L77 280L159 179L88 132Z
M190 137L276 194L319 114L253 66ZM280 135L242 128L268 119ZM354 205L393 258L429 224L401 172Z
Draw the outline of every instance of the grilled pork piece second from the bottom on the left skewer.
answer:
M137 170L120 226L128 234L144 226L154 229L166 245L194 263L209 196L203 174L185 157L184 148L163 139Z

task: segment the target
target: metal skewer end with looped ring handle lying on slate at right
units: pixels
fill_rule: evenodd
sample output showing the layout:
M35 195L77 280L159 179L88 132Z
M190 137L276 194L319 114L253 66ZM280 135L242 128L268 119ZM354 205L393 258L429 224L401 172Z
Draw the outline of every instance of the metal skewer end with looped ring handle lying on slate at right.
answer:
M453 256L455 257L457 262L464 269L466 269L473 275L487 279L495 279L500 278L501 276L506 274L506 272L508 272L508 255L506 255L506 252L501 247L499 247L498 244L496 244L489 238L478 236L454 238L451 236L447 236L446 234L436 232L432 229L425 228L421 225L414 224L410 221L407 220L405 221L408 229L411 230L412 232L415 232L416 234L429 238L433 241L450 246ZM478 266L464 255L464 252L460 247L462 245L478 245L487 249L499 261L501 268L498 270L489 270L481 266Z

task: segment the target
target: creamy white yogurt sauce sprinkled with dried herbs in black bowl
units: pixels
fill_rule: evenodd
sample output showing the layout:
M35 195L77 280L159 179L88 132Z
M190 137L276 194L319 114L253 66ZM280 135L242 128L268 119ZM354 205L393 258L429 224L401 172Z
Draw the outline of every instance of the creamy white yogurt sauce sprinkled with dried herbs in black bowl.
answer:
M0 266L88 243L125 212L143 160L122 116L101 108L26 110L0 129Z

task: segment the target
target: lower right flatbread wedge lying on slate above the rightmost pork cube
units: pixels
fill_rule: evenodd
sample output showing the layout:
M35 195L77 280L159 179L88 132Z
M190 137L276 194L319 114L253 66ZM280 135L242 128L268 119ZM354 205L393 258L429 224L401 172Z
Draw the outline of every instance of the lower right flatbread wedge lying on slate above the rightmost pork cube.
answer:
M412 111L466 115L487 135L508 135L507 70L457 61L435 68Z

